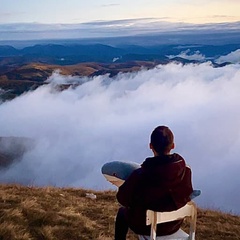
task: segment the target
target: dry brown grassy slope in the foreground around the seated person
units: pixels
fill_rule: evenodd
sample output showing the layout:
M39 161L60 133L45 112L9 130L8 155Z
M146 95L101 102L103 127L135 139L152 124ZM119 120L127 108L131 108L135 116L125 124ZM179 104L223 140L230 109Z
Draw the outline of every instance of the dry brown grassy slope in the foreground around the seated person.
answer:
M86 193L94 193L90 199ZM0 239L113 239L114 191L0 185ZM129 232L128 240L137 240ZM240 239L240 217L198 209L197 240Z

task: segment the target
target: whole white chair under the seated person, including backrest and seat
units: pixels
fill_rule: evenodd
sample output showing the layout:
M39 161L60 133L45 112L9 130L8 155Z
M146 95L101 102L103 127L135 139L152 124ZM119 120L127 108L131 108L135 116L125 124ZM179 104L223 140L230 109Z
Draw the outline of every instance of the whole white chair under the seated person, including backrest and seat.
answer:
M156 237L157 224L171 222L186 217L189 217L189 234L184 232L182 229L179 229L174 234ZM171 212L154 212L152 210L147 210L146 224L151 225L151 235L140 235L139 240L195 240L196 222L197 207L193 201L190 201L182 208Z

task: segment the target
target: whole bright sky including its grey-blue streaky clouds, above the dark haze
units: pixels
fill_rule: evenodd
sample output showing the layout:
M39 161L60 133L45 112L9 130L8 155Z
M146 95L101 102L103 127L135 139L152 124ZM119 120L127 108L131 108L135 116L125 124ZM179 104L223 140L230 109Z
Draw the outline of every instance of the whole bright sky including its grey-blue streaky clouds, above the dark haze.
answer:
M240 0L0 0L0 41L238 31L239 25Z

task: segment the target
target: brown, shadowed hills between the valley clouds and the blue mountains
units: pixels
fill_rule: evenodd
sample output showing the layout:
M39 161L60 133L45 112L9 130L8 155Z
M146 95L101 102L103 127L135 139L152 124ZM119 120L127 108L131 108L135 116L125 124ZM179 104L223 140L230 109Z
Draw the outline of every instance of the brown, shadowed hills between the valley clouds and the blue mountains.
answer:
M1 61L0 61L1 62ZM25 65L0 64L0 99L10 100L24 92L35 90L46 84L46 80L56 70L62 75L79 77L94 77L109 74L110 77L119 72L139 71L141 68L153 68L159 62L130 61L128 63L79 63L74 65L52 65L44 63L29 63ZM63 88L64 89L64 88Z

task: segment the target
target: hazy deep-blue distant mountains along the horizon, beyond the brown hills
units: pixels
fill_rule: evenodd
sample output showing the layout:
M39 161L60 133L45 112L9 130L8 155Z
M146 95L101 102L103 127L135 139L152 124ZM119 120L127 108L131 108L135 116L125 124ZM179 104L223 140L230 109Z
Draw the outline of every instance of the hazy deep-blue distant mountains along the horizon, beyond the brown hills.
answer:
M81 62L163 61L168 59L167 55L178 55L186 50L190 50L190 53L199 51L207 58L215 58L239 48L240 43L226 45L118 45L115 47L104 44L37 44L23 49L0 45L0 66L2 68L9 62L70 65Z

